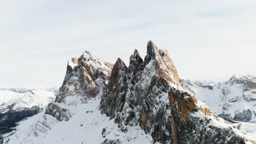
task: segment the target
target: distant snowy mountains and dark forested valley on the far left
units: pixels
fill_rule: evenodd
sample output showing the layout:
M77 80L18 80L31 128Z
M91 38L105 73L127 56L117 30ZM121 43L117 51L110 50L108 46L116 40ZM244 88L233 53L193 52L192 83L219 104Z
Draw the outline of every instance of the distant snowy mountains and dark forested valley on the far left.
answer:
M44 113L44 108L55 100L55 88L1 88L0 89L0 143L15 133L18 122Z

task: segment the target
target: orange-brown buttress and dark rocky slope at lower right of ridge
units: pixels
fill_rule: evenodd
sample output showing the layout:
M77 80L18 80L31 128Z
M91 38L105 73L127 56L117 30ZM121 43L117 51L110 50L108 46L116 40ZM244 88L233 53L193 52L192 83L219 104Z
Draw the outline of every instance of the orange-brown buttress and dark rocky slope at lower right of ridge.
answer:
M170 93L174 144L181 143L245 143L231 129L209 125L210 119L191 115L199 111L193 96L173 89ZM210 128L210 129L209 129Z

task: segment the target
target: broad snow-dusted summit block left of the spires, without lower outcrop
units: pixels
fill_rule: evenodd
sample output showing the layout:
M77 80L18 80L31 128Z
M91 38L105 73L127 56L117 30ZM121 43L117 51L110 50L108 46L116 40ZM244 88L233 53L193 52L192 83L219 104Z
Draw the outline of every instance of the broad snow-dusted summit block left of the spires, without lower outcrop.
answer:
M100 88L105 85L110 76L111 66L103 62L92 53L85 51L79 58L71 58L68 61L67 72L60 88L61 97L56 101L61 102L69 92L96 97Z

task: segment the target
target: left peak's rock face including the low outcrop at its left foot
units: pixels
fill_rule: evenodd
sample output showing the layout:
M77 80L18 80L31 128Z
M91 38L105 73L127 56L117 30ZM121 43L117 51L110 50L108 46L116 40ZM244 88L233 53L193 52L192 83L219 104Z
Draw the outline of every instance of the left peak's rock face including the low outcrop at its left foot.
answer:
M56 96L55 103L46 107L45 114L52 115L59 121L68 121L72 113L67 106L73 105L70 104L72 101L69 96L81 97L82 103L88 98L95 98L107 85L111 70L111 64L101 61L88 51L79 58L69 59L60 94Z

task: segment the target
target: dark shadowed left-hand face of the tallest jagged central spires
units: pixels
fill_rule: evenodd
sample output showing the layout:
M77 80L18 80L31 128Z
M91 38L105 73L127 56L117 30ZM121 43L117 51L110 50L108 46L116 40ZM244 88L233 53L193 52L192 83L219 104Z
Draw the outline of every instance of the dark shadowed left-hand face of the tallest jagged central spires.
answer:
M153 43L149 42L148 44ZM168 143L172 141L171 112L166 93L169 86L168 81L161 75L161 69L155 68L156 61L159 61L156 59L162 59L159 52L161 50L157 50L155 46L148 45L146 56L148 62L143 62L138 51L135 50L133 55L130 56L127 73L123 73L126 75L123 77L127 77L127 82L123 81L121 84L121 86L126 86L127 89L123 99L124 102L122 101L124 103L123 110L115 111L114 117L109 115L109 111L116 110L116 106L108 99L113 101L119 98L118 95L112 94L113 92L107 94L111 91L111 87L106 87L107 89L102 95L100 109L102 113L106 113L110 118L115 118L115 122L118 123L122 131L127 130L126 125L140 125L146 133L152 135L154 141ZM165 55L165 58L167 57ZM168 68L174 68L162 65L159 67L166 68L166 71L168 71ZM122 79L120 79L120 83ZM172 80L175 81L174 78ZM112 83L112 79L110 83Z

